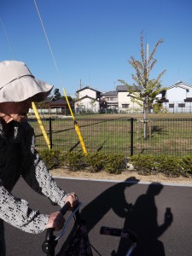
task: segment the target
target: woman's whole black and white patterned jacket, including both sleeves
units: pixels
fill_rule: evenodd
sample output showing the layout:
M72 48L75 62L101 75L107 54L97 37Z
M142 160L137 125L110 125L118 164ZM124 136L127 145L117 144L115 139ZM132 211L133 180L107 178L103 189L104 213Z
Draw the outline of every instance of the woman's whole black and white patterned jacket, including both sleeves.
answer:
M0 218L20 230L39 233L45 229L49 216L28 207L28 202L11 194L20 176L32 189L47 196L60 207L67 194L51 177L35 149L32 126L12 121L3 131L0 120Z

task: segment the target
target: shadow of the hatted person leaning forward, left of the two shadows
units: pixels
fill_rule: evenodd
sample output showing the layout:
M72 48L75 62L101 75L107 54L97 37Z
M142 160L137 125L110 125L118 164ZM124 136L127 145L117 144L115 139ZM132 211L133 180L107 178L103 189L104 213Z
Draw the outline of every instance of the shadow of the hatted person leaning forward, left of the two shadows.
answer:
M82 209L80 216L82 219L86 219L88 233L110 209L113 209L113 212L120 218L127 216L127 211L131 205L125 199L125 189L136 183L138 180L135 177L129 177L124 182L117 183L103 191Z

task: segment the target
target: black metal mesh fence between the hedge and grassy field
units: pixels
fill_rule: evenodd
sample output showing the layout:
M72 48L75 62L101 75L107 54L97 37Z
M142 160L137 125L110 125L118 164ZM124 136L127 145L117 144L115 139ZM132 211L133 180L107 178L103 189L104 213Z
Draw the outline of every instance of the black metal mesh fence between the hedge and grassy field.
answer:
M80 151L73 119L42 119L50 148ZM38 149L47 148L37 119ZM192 119L78 119L87 152L185 155L192 152Z

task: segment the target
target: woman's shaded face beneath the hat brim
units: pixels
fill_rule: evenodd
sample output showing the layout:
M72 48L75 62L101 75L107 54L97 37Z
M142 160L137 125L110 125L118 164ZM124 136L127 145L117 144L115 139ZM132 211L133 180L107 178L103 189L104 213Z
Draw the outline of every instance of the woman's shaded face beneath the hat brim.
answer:
M32 99L24 102L3 102L0 103L0 117L9 123L12 120L22 122L26 119L26 114L32 108Z

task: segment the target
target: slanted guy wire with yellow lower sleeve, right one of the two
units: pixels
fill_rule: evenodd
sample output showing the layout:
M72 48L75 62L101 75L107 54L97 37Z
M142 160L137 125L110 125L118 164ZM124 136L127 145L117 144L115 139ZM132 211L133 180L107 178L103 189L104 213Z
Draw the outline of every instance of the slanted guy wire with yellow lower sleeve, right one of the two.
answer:
M63 86L63 82L62 82L62 79L61 79L61 73L60 73L59 68L58 68L58 66L57 66L57 64L56 64L55 56L54 56L53 50L51 49L51 46L50 46L50 43L49 43L49 38L48 38L47 32L46 32L46 30L45 30L44 22L43 22L43 20L42 20L42 18L41 18L41 15L40 15L40 12L39 12L39 9L38 9L38 4L36 3L36 0L34 0L34 4L35 4L35 7L36 7L36 10L37 10L37 13L38 13L38 18L39 18L39 20L40 20L41 26L42 26L43 31L44 31L44 36L45 36L46 41L47 41L47 44L48 44L48 46L49 46L50 55L52 56L52 59L53 59L54 64L55 64L55 69L56 69L56 72L57 72L57 74L58 74L58 78L59 78L59 80L60 80L60 83L61 83L62 86ZM71 115L72 115L72 118L73 118L74 128L75 128L75 131L77 132L77 135L78 135L78 137L79 137L79 142L80 142L81 147L82 147L82 149L83 149L83 151L84 151L84 154L86 155L86 154L87 154L87 150L86 150L86 147L85 147L85 144L84 144L84 139L83 139L83 137L82 137L82 135L81 135L81 131L80 131L80 129L79 129L78 122L77 122L77 120L76 120L75 117L74 117L73 110L72 110L71 105L70 105L70 103L69 103L69 101L68 101L67 92L66 92L64 86L63 86L63 93L64 93L64 96L65 96L65 98L66 98L67 106L68 106L68 108L69 108L69 111L70 111L70 113L71 113Z

